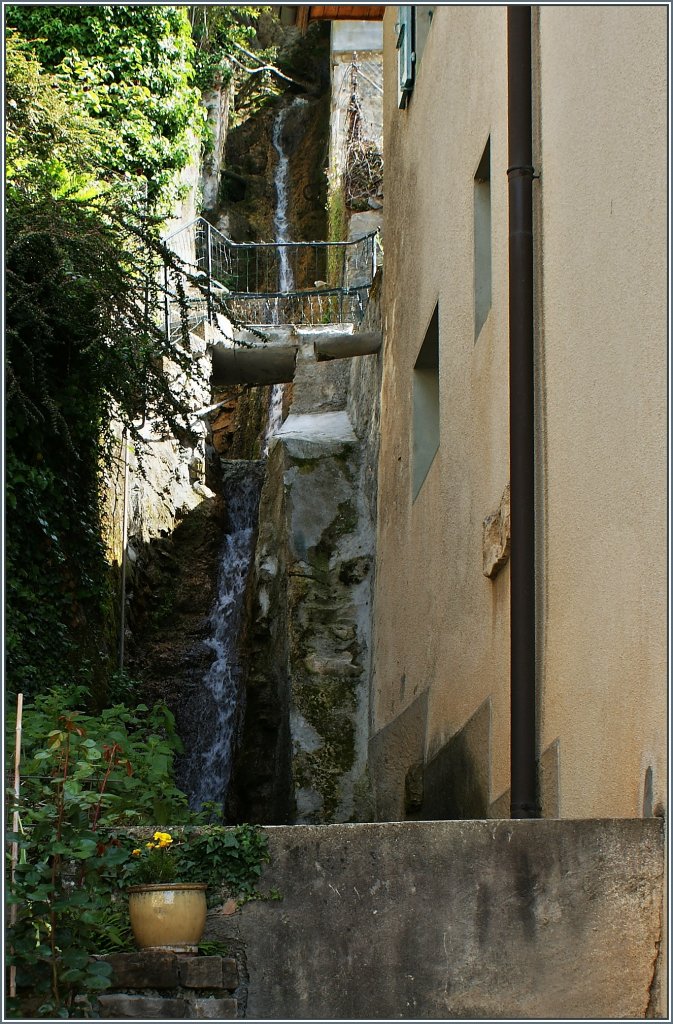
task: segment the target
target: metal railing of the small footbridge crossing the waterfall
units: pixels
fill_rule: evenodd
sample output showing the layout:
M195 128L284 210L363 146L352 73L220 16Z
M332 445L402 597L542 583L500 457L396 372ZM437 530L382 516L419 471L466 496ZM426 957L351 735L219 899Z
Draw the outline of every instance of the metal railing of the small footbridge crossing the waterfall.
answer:
M378 232L351 242L232 242L203 217L164 239L179 274L166 269L165 319L172 335L221 310L254 326L357 324L376 273ZM294 282L280 291L281 281ZM180 295L180 293L182 293Z

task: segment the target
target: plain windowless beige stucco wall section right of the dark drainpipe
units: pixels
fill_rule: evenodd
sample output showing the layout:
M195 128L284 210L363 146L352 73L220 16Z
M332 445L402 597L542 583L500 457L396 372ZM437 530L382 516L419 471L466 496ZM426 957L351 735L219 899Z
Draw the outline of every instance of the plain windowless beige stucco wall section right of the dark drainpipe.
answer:
M666 791L667 10L540 9L542 745L564 816ZM572 74L569 71L572 69Z

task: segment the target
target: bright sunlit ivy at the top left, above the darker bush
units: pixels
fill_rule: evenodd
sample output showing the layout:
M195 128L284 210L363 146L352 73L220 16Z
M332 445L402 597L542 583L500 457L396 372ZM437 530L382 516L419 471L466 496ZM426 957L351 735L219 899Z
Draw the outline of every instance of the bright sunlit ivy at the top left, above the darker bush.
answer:
M187 162L190 130L203 123L185 8L9 4L5 17L57 74L69 105L104 127L104 175L145 180L151 200L166 198Z

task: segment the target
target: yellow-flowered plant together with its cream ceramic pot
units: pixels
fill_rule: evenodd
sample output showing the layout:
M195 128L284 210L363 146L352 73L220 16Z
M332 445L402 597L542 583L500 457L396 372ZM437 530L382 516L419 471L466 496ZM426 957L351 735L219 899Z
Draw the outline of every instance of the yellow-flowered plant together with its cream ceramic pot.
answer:
M156 831L132 851L128 889L131 929L140 949L197 952L206 927L205 882L179 882L180 843Z

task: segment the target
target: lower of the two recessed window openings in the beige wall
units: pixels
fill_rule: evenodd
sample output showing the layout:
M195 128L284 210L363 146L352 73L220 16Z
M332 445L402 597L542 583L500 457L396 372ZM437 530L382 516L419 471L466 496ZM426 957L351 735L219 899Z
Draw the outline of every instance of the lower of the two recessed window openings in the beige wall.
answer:
M423 486L439 447L439 307L432 319L414 366L414 444L412 454L413 501Z

